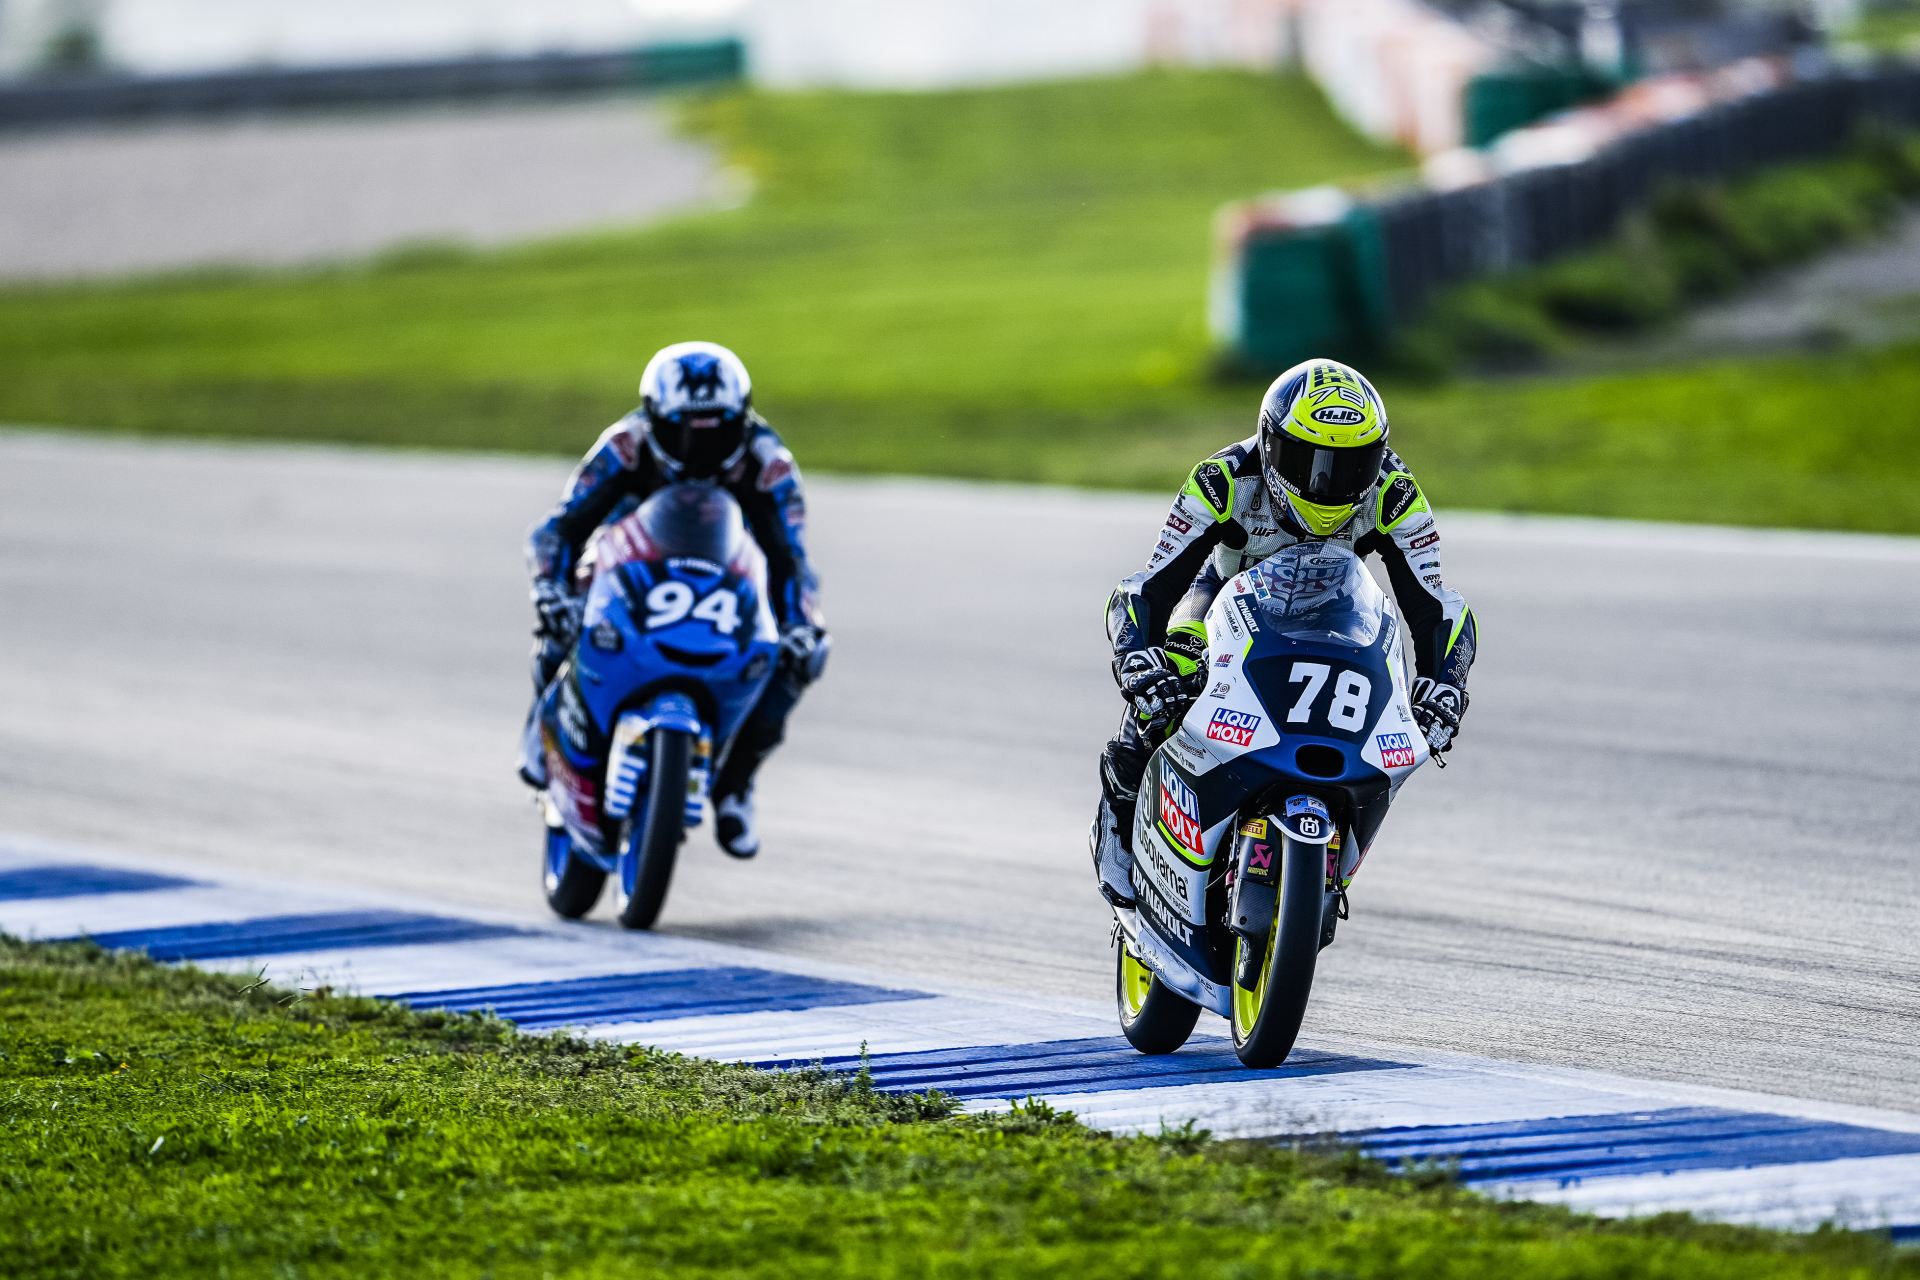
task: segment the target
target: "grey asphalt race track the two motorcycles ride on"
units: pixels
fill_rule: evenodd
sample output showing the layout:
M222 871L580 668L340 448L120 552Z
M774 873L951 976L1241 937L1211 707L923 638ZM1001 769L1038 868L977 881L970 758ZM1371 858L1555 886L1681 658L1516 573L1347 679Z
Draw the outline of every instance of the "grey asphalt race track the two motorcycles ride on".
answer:
M538 913L518 549L563 476L0 436L0 829ZM666 927L1100 1000L1098 604L1160 507L816 482L835 668L766 773L768 852L697 833ZM1920 545L1444 528L1473 714L1309 1034L1910 1105Z

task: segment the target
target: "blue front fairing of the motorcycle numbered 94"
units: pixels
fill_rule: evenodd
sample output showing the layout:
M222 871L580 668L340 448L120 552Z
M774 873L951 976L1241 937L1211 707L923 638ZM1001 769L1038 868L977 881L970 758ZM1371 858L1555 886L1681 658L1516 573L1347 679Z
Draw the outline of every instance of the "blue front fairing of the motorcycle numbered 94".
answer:
M772 679L780 629L766 558L710 486L660 489L595 533L582 560L591 578L580 639L540 714L549 794L578 846L601 854L622 716L699 727L718 760Z

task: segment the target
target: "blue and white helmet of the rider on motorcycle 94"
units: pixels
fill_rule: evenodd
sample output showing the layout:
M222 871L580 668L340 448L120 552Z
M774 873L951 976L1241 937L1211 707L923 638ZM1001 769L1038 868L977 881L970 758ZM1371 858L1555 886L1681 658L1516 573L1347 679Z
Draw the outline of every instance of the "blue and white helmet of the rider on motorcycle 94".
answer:
M718 342L660 347L639 376L649 443L674 474L716 476L747 449L753 378Z

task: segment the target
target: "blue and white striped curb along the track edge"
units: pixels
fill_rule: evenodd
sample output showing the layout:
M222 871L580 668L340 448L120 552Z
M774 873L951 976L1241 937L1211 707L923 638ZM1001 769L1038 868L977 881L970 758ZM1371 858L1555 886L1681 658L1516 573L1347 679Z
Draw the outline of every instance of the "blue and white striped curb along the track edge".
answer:
M1248 1071L1219 1034L1144 1057L1106 1009L910 990L687 938L21 839L0 841L0 933L90 936L284 986L493 1009L530 1031L762 1069L864 1061L876 1088L937 1088L968 1111L1037 1098L1114 1132L1331 1134L1392 1165L1444 1163L1490 1196L1609 1217L1688 1211L1920 1240L1920 1115L1897 1111L1352 1044Z

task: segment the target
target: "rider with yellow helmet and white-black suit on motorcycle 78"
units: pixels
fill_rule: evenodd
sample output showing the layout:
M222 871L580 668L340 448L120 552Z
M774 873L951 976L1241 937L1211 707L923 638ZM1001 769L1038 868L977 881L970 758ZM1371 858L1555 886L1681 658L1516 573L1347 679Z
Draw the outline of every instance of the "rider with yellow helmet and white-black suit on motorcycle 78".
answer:
M1440 532L1386 447L1386 407L1359 372L1313 359L1273 380L1254 436L1194 466L1146 568L1108 601L1114 679L1127 699L1100 754L1091 833L1100 892L1133 906L1133 819L1154 747L1206 683L1206 610L1235 574L1302 541L1379 555L1407 622L1413 716L1438 756L1467 712L1473 610L1440 576Z

